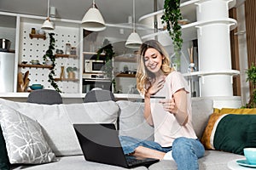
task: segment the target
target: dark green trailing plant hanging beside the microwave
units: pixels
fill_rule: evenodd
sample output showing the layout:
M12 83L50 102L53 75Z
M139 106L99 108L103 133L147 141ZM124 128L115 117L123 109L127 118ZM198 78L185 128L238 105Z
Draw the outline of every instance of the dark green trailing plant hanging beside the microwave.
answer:
M113 78L113 56L114 56L114 51L113 51L113 46L112 44L108 41L108 39L105 39L102 48L100 48L97 51L97 59L100 58L101 54L105 54L105 65L102 68L103 71L105 72L106 76L111 80L113 84L113 90L116 91L115 88L115 79Z

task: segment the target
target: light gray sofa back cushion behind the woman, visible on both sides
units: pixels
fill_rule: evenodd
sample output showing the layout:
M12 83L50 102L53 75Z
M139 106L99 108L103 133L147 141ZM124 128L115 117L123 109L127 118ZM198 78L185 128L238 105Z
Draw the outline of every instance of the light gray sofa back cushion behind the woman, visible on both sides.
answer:
M144 104L119 100L119 135L138 139L154 140L154 127L150 127L143 116ZM192 98L192 123L195 133L201 139L207 126L209 116L213 112L212 99Z

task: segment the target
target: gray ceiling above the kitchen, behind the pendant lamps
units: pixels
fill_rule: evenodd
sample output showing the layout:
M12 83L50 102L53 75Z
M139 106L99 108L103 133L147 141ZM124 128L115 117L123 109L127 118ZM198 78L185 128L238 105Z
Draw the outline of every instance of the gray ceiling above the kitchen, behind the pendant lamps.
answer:
M157 0L157 10L163 8L164 0ZM0 11L47 16L47 0L1 0ZM49 0L49 6L56 8L55 18L82 20L91 7L92 0ZM96 6L108 24L128 22L132 15L132 0L96 0ZM154 12L153 0L136 0L135 14L138 20L144 14Z

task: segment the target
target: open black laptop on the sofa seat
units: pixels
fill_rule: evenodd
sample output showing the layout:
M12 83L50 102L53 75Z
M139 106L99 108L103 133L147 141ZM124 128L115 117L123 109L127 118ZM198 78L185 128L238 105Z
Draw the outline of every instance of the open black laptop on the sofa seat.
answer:
M125 156L119 141L118 131L113 124L74 124L79 144L86 161L96 161L119 167L138 167L159 160Z

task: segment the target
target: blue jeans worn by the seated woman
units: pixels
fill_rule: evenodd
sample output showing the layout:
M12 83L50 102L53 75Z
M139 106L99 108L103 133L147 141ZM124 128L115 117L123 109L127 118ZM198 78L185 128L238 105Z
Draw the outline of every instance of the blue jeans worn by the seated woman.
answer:
M175 139L170 147L162 147L154 141L134 139L127 136L119 136L119 139L125 155L134 152L138 146L144 146L162 152L172 150L172 157L177 163L178 170L198 170L198 158L201 158L205 154L204 146L198 139L180 137Z

